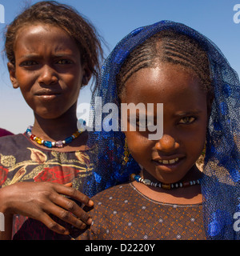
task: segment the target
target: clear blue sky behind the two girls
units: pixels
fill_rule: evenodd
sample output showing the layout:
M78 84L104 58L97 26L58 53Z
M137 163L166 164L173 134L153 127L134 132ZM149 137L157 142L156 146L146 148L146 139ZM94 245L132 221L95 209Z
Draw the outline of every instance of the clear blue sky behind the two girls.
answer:
M5 24L10 23L26 3L38 1L0 0L5 7ZM163 19L182 22L205 34L225 54L240 74L240 23L234 23L234 6L240 0L70 0L59 2L74 6L96 26L112 50L131 30ZM240 16L239 16L240 18ZM0 41L1 52L3 39ZM106 48L105 48L106 49ZM106 55L109 54L105 50ZM88 87L80 93L79 102L89 102ZM6 58L0 59L0 127L22 133L32 124L33 114L21 92L14 90L6 69Z

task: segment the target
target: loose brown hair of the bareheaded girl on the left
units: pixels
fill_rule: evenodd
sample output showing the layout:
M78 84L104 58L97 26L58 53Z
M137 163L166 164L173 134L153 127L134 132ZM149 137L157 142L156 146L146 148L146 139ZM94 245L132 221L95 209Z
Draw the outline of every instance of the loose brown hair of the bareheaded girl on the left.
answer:
M12 64L15 64L14 44L18 31L24 26L36 24L58 26L74 39L81 54L82 63L86 63L94 78L98 78L100 59L102 58L101 39L94 26L73 7L55 1L37 2L19 14L6 27L5 51Z

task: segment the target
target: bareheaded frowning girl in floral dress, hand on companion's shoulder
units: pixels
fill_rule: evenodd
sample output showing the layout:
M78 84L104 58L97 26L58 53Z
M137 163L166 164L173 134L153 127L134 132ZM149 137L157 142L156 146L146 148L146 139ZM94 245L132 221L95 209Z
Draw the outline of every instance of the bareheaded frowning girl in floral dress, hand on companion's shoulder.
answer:
M34 111L34 125L1 138L2 238L12 227L18 239L70 238L70 226L91 222L74 202L93 204L80 192L90 162L76 107L80 89L98 74L98 34L70 6L38 2L7 26L5 46L10 81Z

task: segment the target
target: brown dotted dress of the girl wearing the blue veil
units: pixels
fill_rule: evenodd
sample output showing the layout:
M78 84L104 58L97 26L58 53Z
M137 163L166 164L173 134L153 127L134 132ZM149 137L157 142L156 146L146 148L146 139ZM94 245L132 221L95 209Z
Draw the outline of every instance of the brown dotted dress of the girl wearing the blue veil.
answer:
M132 183L114 186L93 197L94 223L79 240L205 240L202 204L156 202Z

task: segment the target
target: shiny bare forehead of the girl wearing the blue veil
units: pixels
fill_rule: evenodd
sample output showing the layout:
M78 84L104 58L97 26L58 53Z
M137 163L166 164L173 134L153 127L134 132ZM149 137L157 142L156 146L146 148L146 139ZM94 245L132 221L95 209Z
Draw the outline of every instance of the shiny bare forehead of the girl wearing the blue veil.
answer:
M206 94L198 78L186 70L172 64L138 70L126 82L126 102L199 102Z

